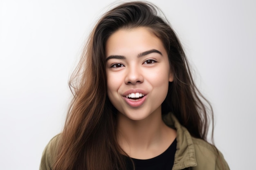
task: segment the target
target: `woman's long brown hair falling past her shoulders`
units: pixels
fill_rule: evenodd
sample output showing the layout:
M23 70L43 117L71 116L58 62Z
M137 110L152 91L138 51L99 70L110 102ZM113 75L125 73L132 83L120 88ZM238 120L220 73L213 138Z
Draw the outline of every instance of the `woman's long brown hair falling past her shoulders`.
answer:
M70 79L74 99L61 133L54 170L125 169L125 153L116 137L116 109L107 95L105 68L106 41L118 29L144 26L162 40L174 77L162 113L172 111L193 137L206 140L209 124L202 101L207 100L193 82L176 33L159 11L148 2L126 2L105 13L94 27Z

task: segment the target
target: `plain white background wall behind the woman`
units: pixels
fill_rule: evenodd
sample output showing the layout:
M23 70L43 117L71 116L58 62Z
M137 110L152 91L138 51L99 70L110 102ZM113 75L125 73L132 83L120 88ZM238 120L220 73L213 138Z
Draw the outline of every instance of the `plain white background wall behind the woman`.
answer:
M110 0L0 0L0 169L36 170L61 132L67 82ZM256 2L152 0L180 37L215 112L215 143L232 170L253 169ZM254 165L255 167L255 165Z

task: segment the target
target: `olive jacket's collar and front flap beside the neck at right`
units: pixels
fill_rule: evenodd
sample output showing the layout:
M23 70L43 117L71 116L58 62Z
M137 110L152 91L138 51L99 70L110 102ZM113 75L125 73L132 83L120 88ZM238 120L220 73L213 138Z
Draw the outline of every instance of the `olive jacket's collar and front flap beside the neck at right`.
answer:
M177 130L177 150L172 170L197 166L195 148L189 131L180 124L173 113L164 115L163 120L167 126Z

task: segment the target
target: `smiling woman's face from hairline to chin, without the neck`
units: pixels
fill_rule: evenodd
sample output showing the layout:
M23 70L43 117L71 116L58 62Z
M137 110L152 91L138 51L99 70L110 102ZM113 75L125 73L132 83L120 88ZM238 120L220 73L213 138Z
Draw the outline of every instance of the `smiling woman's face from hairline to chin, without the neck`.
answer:
M146 27L120 29L106 42L108 97L123 114L142 120L161 114L173 81L162 41Z

